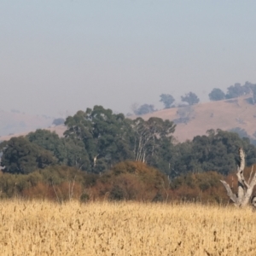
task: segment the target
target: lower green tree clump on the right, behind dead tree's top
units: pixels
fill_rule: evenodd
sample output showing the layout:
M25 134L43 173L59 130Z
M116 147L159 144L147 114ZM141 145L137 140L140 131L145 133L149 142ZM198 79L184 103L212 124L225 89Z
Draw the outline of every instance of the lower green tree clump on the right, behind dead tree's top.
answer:
M210 130L207 136L177 143L172 147L170 175L175 177L181 173L206 171L227 175L236 170L240 147L246 152L248 166L256 162L256 148L248 138L240 138L235 132Z

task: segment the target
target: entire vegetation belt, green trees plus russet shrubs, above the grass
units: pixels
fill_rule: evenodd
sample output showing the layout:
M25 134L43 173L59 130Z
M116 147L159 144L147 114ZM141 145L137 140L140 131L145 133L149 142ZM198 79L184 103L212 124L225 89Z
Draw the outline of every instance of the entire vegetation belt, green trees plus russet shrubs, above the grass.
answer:
M236 170L238 148L247 166L256 162L255 146L233 131L177 143L169 120L127 119L101 106L69 116L65 125L64 137L38 130L0 143L1 196L161 201L194 200L204 191L207 201L217 191L211 200L221 201L218 179Z

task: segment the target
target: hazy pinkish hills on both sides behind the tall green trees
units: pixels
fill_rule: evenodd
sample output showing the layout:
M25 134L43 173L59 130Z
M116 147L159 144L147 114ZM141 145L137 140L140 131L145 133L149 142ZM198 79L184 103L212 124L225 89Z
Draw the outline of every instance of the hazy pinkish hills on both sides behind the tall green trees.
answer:
M159 117L174 121L177 124L174 137L179 142L191 140L197 135L204 135L210 129L230 131L239 128L246 131L250 137L255 138L253 134L256 131L256 105L250 104L249 98L250 96L241 96L218 102L162 109L141 117L143 119ZM38 128L55 131L59 136L62 136L66 130L65 125L49 127L53 119L44 116L28 116L22 113L0 111L0 120L0 131L5 135L1 137L1 140L24 136L29 131L35 131ZM9 135L9 133L15 134Z

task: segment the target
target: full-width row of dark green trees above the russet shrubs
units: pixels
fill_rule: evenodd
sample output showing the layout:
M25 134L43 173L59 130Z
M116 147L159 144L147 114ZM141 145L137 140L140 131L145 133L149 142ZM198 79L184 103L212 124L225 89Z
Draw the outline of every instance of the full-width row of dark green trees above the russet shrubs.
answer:
M122 113L95 106L66 119L65 137L38 130L3 142L3 172L26 174L46 166L74 166L102 173L125 160L142 161L170 177L188 172L236 170L237 151L244 148L247 165L256 148L232 131L207 131L192 141L175 143L175 125L160 118L127 119Z

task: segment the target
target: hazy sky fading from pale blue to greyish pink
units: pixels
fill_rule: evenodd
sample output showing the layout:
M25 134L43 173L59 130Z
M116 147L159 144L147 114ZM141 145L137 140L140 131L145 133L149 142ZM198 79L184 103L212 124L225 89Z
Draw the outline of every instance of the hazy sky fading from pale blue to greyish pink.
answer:
M256 83L256 1L0 0L0 109L162 108Z

